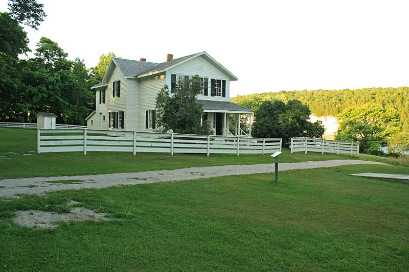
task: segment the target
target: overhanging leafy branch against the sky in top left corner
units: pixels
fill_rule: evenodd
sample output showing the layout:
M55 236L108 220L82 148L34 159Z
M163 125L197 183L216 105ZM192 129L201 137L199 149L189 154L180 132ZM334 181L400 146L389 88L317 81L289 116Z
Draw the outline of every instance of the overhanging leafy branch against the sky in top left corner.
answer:
M17 22L35 30L47 16L43 10L44 5L37 3L36 0L9 0L8 6L11 16Z

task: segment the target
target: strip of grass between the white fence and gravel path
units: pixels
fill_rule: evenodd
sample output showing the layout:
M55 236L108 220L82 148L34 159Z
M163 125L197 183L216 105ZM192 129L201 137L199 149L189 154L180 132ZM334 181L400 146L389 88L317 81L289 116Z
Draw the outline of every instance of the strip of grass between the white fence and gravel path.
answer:
M73 176L176 169L196 166L272 163L269 155L235 154L170 154L123 152L81 152L36 154L37 132L28 129L0 128L0 179L25 177ZM29 154L29 155L27 155ZM363 159L384 161L388 159L362 154L350 155L298 152L290 155L283 149L280 162L302 162L334 159Z

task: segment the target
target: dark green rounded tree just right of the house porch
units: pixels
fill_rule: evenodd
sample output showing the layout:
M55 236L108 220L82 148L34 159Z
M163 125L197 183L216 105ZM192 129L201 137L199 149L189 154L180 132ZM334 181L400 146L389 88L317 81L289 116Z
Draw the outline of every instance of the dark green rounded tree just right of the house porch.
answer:
M255 110L253 135L255 137L279 137L288 146L292 137L321 138L324 128L321 122L308 121L310 110L298 100L264 101Z

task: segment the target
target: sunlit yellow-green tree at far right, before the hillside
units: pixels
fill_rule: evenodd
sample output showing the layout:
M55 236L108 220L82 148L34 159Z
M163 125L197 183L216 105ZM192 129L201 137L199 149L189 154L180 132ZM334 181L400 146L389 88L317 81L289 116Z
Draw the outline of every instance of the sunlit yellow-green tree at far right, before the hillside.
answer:
M340 114L337 140L358 141L361 152L378 154L388 137L402 129L397 110L378 104L350 107Z

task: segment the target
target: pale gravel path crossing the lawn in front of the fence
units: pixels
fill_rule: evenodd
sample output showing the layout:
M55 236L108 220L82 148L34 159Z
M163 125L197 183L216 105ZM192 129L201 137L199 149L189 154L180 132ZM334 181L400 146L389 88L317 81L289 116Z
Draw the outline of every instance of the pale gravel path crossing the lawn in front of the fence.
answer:
M280 163L279 170L321 168L349 164L383 163L358 160L309 161ZM274 172L273 164L225 165L104 175L8 179L0 180L0 197L13 197L15 194L43 194L50 191L66 189L105 188L116 185L193 180L266 172ZM60 181L60 183L58 183L58 181Z

